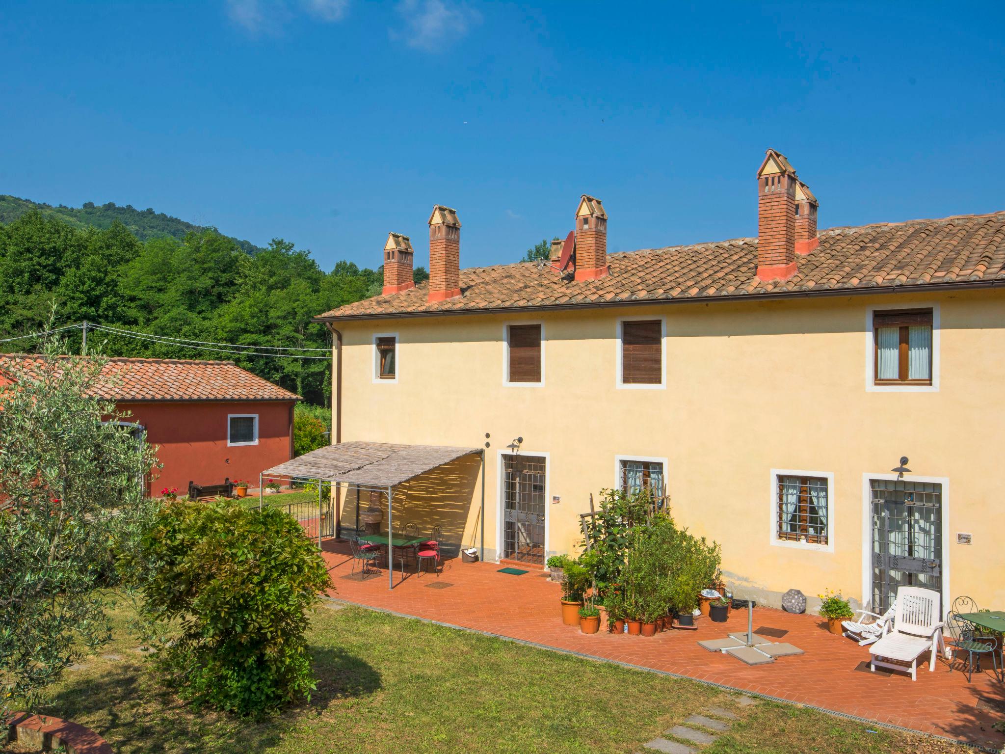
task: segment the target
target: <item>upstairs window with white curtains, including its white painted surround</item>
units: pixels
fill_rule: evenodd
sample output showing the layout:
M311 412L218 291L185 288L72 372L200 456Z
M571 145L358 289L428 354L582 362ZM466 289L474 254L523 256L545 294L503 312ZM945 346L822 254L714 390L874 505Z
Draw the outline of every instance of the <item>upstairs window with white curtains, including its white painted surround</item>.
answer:
M938 304L869 307L865 318L865 390L938 392Z

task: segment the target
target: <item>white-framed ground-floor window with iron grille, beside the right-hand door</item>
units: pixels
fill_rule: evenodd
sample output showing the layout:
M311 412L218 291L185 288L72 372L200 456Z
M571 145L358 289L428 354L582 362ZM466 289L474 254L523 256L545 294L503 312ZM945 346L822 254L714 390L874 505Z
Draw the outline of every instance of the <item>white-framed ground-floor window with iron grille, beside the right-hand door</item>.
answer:
M771 544L834 552L834 474L771 469Z

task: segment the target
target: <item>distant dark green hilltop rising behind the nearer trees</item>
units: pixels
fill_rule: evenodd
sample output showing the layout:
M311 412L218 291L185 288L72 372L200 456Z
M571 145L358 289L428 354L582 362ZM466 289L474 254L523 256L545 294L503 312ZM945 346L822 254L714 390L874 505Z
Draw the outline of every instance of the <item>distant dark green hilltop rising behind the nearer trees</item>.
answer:
M189 233L207 229L166 215L163 212L155 212L151 208L136 209L130 204L120 207L115 202L106 202L105 204L84 202L82 207L65 207L62 204L53 207L49 204L33 202L30 199L19 199L16 196L0 194L0 222L13 222L32 209L43 215L59 217L71 226L79 228L94 227L107 230L112 227L112 223L121 222L141 241L167 235L181 240ZM239 238L230 238L230 240L249 254L261 251L261 247L254 245L251 241Z

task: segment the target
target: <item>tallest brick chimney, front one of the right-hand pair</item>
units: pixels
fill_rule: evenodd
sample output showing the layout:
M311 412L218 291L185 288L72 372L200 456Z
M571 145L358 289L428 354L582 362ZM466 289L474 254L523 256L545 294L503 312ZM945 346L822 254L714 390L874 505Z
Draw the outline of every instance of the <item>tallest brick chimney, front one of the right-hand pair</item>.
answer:
M757 172L757 276L787 280L796 273L796 171L769 149Z

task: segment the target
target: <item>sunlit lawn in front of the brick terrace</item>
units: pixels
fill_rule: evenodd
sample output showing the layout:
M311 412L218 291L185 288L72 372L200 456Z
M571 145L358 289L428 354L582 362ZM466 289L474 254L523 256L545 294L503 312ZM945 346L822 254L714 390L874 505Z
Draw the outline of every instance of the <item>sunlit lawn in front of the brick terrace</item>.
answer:
M67 671L44 712L139 752L635 752L711 706L741 720L702 751L956 754L963 747L699 684L326 602L309 703L254 723L180 702L115 612L112 643ZM0 744L2 746L2 744ZM2 749L0 749L2 750Z

